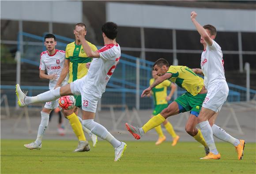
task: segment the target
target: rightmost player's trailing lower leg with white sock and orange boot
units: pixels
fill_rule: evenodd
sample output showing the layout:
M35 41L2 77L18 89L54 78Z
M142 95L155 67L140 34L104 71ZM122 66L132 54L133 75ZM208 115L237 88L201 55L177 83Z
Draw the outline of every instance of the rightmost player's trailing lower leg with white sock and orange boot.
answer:
M216 124L215 124L215 120L218 116L218 113L215 113L214 116L212 116L209 120L209 123L211 125L211 129L212 129L212 133L213 135L222 140L222 141L226 141L226 142L229 142L231 143L235 148L236 148L236 151L237 151L237 158L239 160L243 159L243 156L244 156L244 148L245 148L245 140L239 140L239 139L236 139L236 138L233 138L230 134L228 134L224 129L222 129L221 127L218 127Z

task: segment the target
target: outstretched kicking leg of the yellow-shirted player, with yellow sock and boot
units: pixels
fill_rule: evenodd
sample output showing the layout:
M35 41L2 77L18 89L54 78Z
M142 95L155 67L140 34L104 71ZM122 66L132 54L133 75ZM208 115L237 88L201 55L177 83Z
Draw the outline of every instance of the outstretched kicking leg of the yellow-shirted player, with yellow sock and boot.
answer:
M125 126L127 130L132 134L132 136L135 139L139 140L147 131L162 124L169 116L177 115L178 113L179 106L176 101L173 101L171 104L168 105L166 109L163 109L160 114L148 120L148 122L144 124L143 127L134 127L128 123L125 123Z

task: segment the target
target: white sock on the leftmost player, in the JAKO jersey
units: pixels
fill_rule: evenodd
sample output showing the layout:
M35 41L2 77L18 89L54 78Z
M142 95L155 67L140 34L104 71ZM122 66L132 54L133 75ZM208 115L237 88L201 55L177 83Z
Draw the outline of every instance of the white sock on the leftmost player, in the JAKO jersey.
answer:
M48 126L48 123L49 123L49 114L41 111L41 123L38 127L38 136L35 141L37 145L40 145L42 143L42 139L45 134L45 130Z

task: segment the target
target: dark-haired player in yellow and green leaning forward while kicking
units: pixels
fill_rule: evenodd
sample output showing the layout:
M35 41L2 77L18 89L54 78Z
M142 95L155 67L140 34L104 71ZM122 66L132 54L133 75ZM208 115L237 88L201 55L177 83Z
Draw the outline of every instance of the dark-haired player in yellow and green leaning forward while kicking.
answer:
M163 83L165 80L170 80L176 83L179 87L183 88L187 92L178 97L173 101L166 109L163 109L158 115L152 117L143 127L137 128L126 123L128 131L136 138L145 134L148 130L157 127L169 116L177 115L181 112L190 112L190 116L185 126L185 130L196 141L200 142L205 149L206 154L209 153L209 148L203 138L203 135L199 129L196 128L197 116L202 107L204 98L206 96L207 90L204 88L203 79L197 76L192 69L187 66L169 66L169 63L160 58L154 63L154 70L157 71L159 76L154 83L150 85L146 90L143 91L142 97L150 93L150 91L157 85Z

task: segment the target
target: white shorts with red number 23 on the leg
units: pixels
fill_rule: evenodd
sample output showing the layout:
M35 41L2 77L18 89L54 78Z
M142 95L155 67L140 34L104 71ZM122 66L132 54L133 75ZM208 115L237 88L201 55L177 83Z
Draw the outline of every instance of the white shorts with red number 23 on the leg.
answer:
M86 83L84 78L85 76L82 79L78 79L70 83L70 89L72 94L82 96L82 109L84 111L95 113L99 98L84 87L84 83Z

